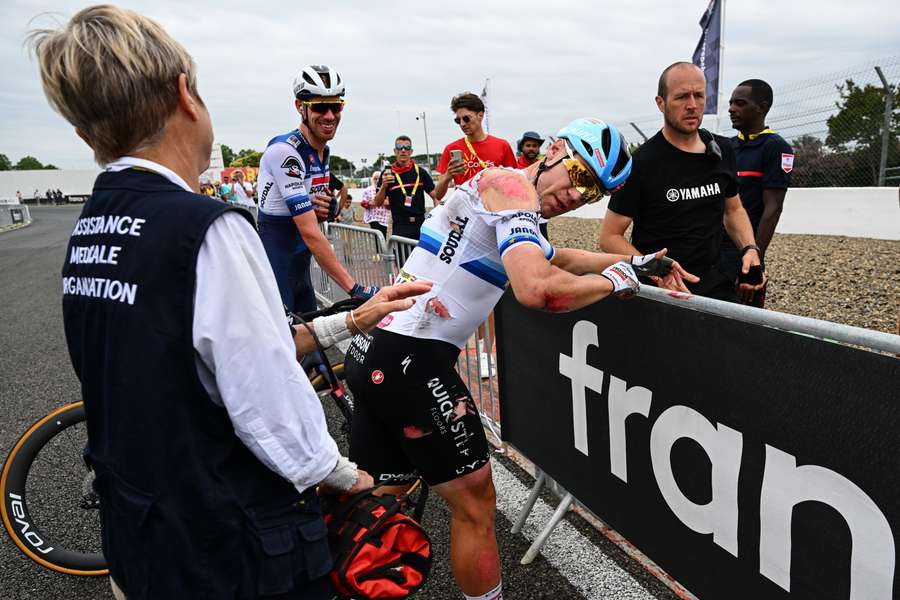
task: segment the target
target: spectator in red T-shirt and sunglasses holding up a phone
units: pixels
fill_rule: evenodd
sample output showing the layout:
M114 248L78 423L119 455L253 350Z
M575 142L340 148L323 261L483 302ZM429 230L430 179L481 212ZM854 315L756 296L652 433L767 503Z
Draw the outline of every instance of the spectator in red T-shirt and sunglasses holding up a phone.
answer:
M434 197L443 200L453 179L461 185L476 173L490 167L515 167L516 156L509 142L488 135L481 123L484 121L484 102L471 92L465 92L450 101L453 121L464 136L447 144L441 154L437 170L441 174L435 186ZM458 151L462 160L451 160L450 153ZM395 223L396 224L396 223Z

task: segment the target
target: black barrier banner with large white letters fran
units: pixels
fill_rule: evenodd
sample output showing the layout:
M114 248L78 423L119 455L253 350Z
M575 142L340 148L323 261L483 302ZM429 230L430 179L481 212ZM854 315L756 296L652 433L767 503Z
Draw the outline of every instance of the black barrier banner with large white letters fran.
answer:
M900 595L900 360L643 298L497 326L503 437L699 598Z

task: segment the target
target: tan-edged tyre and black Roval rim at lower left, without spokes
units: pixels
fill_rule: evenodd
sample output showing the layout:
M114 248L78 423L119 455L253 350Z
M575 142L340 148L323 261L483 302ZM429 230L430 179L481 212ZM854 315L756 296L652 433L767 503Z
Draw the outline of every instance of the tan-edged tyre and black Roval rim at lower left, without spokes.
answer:
M3 473L0 475L3 502L0 504L0 512L7 534L28 558L59 573L96 577L109 574L103 554L58 546L34 522L28 506L27 483L35 458L56 436L83 421L84 403L74 402L50 412L28 428L3 464ZM87 467L85 472L87 473ZM99 539L99 522L96 532Z

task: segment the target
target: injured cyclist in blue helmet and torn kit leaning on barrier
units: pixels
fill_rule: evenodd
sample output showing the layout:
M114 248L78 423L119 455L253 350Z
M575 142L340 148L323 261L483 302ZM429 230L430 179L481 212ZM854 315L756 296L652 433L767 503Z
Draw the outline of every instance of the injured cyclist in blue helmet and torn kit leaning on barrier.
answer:
M356 398L351 457L376 480L416 469L447 501L453 573L467 598L497 599L502 590L488 445L454 370L460 349L507 283L525 306L570 311L633 295L633 267L673 285L683 275L662 259L665 250L554 250L541 236L540 216L600 200L631 170L624 139L603 121L578 119L558 136L540 162L484 170L429 214L398 281L431 281L431 291L371 336L355 336L345 361Z

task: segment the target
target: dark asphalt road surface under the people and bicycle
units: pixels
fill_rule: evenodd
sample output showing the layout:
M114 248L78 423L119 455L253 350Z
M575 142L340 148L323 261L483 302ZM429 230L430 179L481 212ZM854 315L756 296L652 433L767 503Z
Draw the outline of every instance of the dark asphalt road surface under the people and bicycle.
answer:
M0 234L0 454L5 458L21 433L53 408L80 398L62 327L60 269L79 207L32 208L34 222ZM340 439L338 416L326 405ZM528 566L519 559L537 528L509 533L530 477L505 457L495 461L497 536L504 597L509 599L675 598L606 538L570 516L554 532L542 556ZM432 495L434 496L434 495ZM552 510L542 498L538 511ZM537 517L533 521L537 521ZM449 514L432 497L424 524L435 553L434 569L417 598L461 598L449 568ZM87 600L112 598L105 578L53 573L19 553L5 534L0 543L0 597Z

